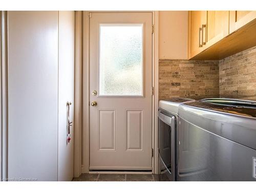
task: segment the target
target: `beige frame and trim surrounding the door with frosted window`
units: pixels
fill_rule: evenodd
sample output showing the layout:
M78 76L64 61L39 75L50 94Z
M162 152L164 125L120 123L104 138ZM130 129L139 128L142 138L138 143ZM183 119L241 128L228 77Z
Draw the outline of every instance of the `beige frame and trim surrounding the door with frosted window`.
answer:
M90 14L113 11L76 11L75 26L75 142L74 177L89 173L90 161ZM153 16L152 36L152 173L158 174L158 11L114 11L150 12ZM120 173L120 172L119 172ZM139 173L139 172L138 172Z

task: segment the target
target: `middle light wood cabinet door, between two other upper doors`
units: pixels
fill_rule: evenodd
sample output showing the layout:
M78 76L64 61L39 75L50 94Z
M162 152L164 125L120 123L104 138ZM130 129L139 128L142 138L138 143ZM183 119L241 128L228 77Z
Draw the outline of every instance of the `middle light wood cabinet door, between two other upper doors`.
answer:
M228 35L228 22L229 11L207 11L207 35L203 38L206 47Z

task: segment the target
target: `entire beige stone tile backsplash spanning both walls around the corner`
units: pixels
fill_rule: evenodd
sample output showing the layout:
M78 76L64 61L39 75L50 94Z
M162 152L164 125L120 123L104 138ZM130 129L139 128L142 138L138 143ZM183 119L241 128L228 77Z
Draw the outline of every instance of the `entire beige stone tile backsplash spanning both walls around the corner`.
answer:
M222 60L159 60L159 99L256 95L256 47Z

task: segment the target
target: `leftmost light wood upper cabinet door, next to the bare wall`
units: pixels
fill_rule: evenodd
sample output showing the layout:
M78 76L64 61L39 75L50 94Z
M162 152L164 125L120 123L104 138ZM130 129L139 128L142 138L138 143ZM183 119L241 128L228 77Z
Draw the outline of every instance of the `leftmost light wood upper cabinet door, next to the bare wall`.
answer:
M190 31L190 57L202 52L203 46L203 29L202 25L206 25L207 11L191 11L191 31Z

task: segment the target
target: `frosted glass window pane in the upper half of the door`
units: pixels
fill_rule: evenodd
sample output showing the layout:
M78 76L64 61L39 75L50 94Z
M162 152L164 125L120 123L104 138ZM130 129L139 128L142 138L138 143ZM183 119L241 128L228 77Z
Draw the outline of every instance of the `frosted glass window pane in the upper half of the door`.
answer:
M99 95L143 96L143 24L99 27Z

